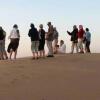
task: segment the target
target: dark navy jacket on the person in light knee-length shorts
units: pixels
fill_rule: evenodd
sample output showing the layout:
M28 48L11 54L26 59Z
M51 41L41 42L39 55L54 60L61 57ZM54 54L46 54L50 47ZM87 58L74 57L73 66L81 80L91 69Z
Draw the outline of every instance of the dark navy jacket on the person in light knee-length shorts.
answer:
M39 33L36 28L31 28L28 36L31 37L31 41L39 41Z

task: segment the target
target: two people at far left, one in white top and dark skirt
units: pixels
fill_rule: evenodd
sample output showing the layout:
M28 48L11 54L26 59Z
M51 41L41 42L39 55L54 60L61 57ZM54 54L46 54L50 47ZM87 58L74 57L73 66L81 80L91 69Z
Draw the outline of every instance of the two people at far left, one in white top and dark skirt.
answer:
M10 44L8 45L7 52L5 50L5 38L6 38L6 32L3 30L2 27L0 27L0 60L7 60L7 52L9 53L9 59L12 59L12 54L14 53L14 60L17 56L17 49L19 46L19 40L20 40L20 33L18 30L18 26L15 24L13 26L13 29L8 37L10 39Z

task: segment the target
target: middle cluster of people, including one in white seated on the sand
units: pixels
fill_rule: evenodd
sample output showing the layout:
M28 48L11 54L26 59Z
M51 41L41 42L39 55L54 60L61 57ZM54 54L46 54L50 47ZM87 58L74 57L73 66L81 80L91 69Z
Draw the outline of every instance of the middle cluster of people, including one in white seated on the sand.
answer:
M54 54L65 53L66 46L64 41L61 40L60 46L58 45L59 33L56 27L53 27L51 22L47 23L48 31L46 32L43 28L43 24L40 24L39 31L35 28L34 24L31 24L31 29L29 30L28 36L31 38L31 50L33 54L32 59L39 59L41 57L45 58L45 43L48 48L47 57L54 57ZM59 50L58 50L59 48Z

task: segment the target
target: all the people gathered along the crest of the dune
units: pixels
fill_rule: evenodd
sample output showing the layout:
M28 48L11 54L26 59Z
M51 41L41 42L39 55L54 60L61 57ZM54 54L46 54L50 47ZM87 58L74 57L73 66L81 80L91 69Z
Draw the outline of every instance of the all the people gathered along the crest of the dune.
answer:
M28 36L31 39L31 51L32 51L32 59L39 59L45 57L54 57L54 54L57 53L66 53L66 45L63 40L60 41L60 45L58 45L59 33L52 25L51 22L47 23L48 31L44 30L43 24L39 25L39 30L35 27L33 23L30 25L30 29L28 32ZM76 25L73 26L73 31L67 33L71 36L71 54L74 53L74 48L76 47L77 53L90 53L90 42L91 42L91 33L89 29L83 29L82 25L79 25L79 29ZM7 52L9 53L9 57L7 56L7 52L5 50L5 38L6 32L0 27L0 60L7 60L8 58L12 59L12 54L14 53L14 60L17 56L17 49L20 41L20 32L18 29L18 25L14 25L13 29L8 37L10 39L10 43L7 48ZM48 55L45 55L45 44L47 44ZM85 50L83 48L83 44L85 46Z

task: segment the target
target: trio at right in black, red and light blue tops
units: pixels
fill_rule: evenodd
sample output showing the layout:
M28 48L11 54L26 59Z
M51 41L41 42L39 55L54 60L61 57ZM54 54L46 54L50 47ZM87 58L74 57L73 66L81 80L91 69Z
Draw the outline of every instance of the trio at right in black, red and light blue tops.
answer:
M76 25L73 26L73 31L67 33L71 36L71 53L74 53L74 48L76 47L76 53L91 53L90 43L91 43L91 33L89 28L84 30L82 25L79 25L79 29Z

